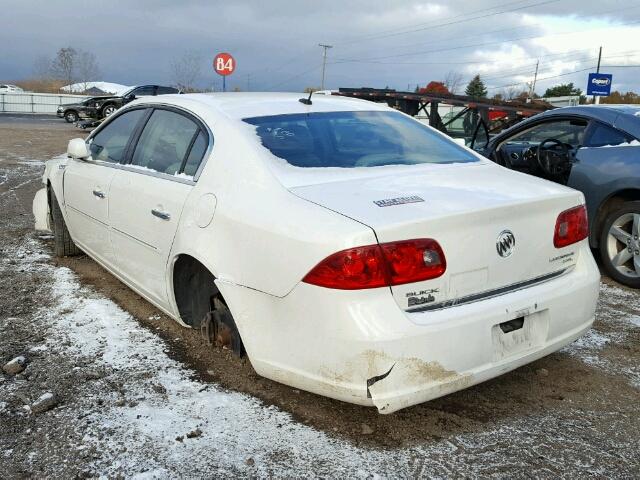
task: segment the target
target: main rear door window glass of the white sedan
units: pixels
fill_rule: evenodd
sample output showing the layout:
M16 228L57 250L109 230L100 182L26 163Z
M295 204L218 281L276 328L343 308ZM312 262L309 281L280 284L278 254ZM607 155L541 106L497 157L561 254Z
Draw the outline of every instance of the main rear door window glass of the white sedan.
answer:
M155 110L140 135L131 164L174 175L180 171L199 130L200 127L184 115Z

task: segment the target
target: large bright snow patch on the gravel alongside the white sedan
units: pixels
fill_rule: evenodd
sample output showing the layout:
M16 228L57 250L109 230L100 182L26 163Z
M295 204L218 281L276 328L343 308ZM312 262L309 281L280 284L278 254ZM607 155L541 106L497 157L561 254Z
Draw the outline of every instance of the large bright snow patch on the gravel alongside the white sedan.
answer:
M278 408L192 379L190 372L167 357L165 344L128 313L81 287L69 269L56 268L52 274L57 302L48 321L57 333L49 339L50 348L59 349L68 338L71 346L65 347L67 353L126 372L129 382L124 391L127 400L135 402L130 407L105 405L102 411L90 414L94 424L113 432L102 440L87 438L110 457L96 465L104 475L140 474L144 466L145 476L155 472L171 477L183 472L185 455L193 471L204 472L217 465L215 471L220 473L258 476L270 476L273 471L284 477L297 476L300 469L289 457L296 458L298 465L317 465L317 472L327 474L374 473L388 465L388 456L375 450L363 451L338 442L296 424ZM158 393L153 385L161 385L164 392ZM203 432L201 436L184 443L175 440L196 428ZM119 454L122 445L127 446L126 456ZM406 465L405 455L396 455L398 467ZM255 465L247 465L247 458L253 458ZM165 466L171 466L172 472Z

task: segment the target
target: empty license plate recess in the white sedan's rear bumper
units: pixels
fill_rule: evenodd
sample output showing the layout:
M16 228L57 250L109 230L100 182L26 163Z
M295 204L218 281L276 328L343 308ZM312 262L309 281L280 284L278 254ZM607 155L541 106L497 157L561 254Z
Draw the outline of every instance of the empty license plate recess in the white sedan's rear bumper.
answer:
M499 361L512 355L540 347L549 331L547 310L529 315L519 315L491 327L493 360Z

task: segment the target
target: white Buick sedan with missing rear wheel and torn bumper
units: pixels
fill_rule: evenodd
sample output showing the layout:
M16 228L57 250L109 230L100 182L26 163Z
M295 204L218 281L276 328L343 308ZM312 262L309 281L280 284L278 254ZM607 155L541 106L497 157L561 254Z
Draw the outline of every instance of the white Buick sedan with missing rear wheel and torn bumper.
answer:
M382 413L590 328L580 192L387 106L299 97L134 101L47 162L36 227L260 375Z

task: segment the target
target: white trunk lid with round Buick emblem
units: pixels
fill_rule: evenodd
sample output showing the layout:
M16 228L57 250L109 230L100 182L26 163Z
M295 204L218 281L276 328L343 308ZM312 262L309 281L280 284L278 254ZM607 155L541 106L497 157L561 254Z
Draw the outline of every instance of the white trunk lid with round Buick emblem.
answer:
M556 249L553 235L558 214L583 203L581 193L488 164L399 172L290 191L368 225L380 243L433 238L441 245L444 275L391 287L401 308L498 294L575 263L576 245Z

